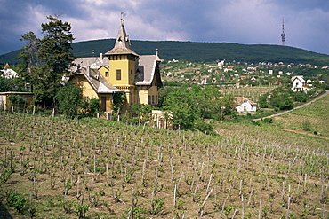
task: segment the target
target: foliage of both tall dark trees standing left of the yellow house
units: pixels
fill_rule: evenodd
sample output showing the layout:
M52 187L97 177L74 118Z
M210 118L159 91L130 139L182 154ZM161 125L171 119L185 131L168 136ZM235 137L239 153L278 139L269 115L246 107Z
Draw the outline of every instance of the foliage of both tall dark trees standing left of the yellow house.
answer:
M20 58L27 67L25 74L24 71L21 72L21 79L32 82L36 103L50 104L60 90L62 77L69 76L68 68L74 60L71 51L74 37L68 22L52 16L47 19L50 21L41 25L44 38L36 40L33 32L22 36L28 44L23 47L25 52L20 54ZM33 64L35 53L41 66Z

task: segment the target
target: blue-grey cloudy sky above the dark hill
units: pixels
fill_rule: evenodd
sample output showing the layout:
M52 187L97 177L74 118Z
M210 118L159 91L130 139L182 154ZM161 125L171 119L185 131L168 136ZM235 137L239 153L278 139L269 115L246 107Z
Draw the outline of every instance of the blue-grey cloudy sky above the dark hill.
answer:
M285 44L329 54L329 0L0 0L0 54L42 37L46 16L61 14L75 42L116 38L121 12L132 40Z

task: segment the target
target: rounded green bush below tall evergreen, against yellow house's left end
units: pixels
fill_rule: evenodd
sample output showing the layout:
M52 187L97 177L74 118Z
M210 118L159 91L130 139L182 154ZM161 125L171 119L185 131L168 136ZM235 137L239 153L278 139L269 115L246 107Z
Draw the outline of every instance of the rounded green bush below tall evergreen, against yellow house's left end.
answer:
M61 87L55 98L59 103L59 113L67 116L76 116L82 106L82 90L73 83Z

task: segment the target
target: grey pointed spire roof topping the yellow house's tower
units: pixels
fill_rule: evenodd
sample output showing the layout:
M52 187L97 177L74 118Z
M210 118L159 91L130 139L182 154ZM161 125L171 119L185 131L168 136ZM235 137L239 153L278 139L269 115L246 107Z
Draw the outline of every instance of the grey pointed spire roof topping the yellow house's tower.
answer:
M105 53L106 56L119 55L119 54L132 54L138 56L138 54L130 48L129 37L125 32L124 20L121 19L121 25L116 36L116 44L114 48Z

